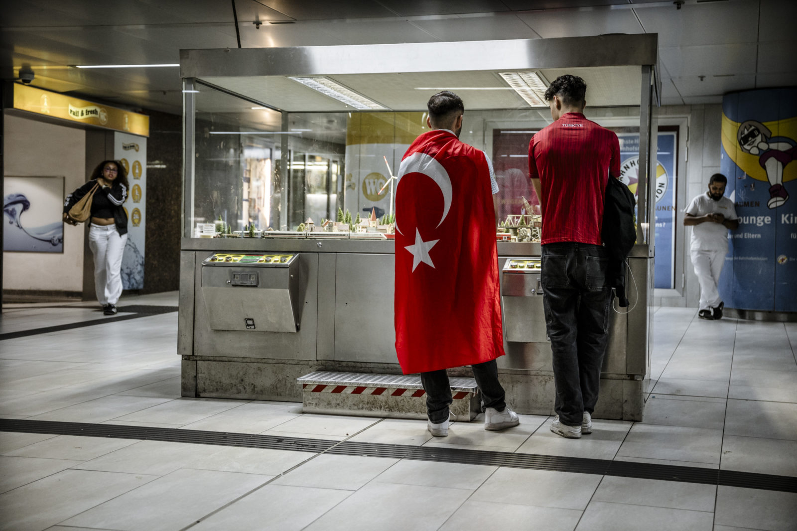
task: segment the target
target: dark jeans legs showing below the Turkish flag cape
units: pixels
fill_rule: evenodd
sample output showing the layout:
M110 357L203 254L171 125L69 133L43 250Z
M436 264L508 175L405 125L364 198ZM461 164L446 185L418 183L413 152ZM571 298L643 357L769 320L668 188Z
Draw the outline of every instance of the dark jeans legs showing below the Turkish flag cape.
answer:
M496 360L473 364L471 368L481 394L481 407L495 407L498 411L504 411L505 392L501 382L498 381ZM449 418L449 406L453 400L446 369L422 372L421 382L423 390L426 391L426 411L429 413L429 419L435 424L442 423Z

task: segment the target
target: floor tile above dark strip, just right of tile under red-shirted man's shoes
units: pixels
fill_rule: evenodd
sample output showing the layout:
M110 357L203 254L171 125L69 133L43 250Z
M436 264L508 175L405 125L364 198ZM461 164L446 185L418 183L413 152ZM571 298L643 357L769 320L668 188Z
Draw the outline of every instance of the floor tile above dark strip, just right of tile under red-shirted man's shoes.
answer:
M719 463L721 448L722 430L637 423L618 456Z

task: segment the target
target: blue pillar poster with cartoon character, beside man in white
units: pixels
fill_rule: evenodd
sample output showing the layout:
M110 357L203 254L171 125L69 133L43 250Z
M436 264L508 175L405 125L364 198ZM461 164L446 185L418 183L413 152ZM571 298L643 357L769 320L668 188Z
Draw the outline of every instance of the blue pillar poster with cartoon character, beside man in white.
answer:
M720 276L728 307L797 310L795 159L797 88L724 96L720 171L740 218Z

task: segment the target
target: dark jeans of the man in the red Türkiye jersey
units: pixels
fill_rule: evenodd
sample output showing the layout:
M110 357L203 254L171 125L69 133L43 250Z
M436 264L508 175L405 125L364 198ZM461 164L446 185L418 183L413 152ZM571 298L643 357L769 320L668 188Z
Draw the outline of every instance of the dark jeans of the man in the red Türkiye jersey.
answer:
M600 369L609 334L613 294L606 283L603 246L549 243L543 248L541 281L556 384L554 409L561 423L580 426L595 411Z

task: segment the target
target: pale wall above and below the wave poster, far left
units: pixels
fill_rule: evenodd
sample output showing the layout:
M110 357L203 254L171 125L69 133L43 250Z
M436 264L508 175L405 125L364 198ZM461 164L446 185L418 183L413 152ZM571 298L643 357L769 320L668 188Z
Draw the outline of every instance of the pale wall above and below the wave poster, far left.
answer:
M6 176L64 176L65 194L86 180L86 134L6 113ZM4 253L4 289L83 291L84 226L64 224L64 253Z

